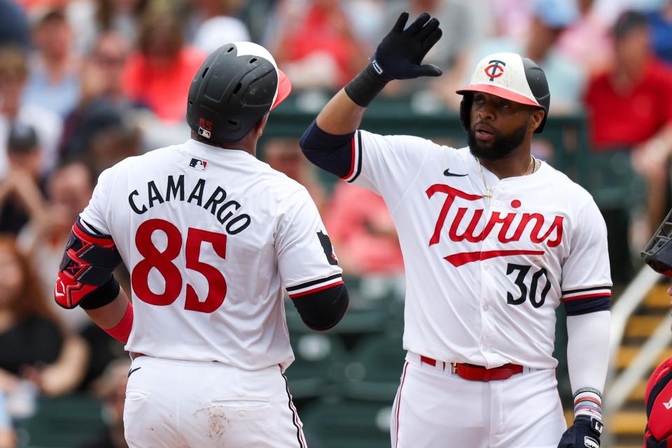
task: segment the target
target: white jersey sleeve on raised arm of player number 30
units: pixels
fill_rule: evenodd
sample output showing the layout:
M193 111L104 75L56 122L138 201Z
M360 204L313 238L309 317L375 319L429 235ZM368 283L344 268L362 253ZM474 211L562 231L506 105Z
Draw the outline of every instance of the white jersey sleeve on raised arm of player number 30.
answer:
M350 172L341 179L381 195L393 210L436 146L420 137L358 130L352 138Z

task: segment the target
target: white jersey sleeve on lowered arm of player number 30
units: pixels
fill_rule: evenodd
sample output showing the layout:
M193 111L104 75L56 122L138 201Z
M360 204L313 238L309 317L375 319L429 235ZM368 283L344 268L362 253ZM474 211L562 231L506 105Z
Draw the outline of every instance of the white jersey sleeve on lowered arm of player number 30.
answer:
M593 200L584 205L562 268L562 302L568 316L606 311L611 300L607 228Z

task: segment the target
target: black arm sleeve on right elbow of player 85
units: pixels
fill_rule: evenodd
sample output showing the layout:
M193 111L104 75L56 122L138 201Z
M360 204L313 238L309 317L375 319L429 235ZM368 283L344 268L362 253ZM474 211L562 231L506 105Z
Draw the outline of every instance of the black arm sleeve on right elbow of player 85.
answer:
M312 330L328 330L345 315L350 296L345 285L334 286L292 299L303 322Z

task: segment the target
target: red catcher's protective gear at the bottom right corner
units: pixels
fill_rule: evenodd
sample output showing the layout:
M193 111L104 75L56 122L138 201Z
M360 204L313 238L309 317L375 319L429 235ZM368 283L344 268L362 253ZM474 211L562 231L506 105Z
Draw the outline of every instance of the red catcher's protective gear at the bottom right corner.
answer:
M672 446L672 358L658 366L651 375L644 397L646 405L646 447Z

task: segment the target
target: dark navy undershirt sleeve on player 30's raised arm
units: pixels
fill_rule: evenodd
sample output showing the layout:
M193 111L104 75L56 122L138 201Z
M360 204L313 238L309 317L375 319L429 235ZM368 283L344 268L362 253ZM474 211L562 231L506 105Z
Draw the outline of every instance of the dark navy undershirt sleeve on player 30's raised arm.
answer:
M350 172L355 133L329 134L321 130L316 121L301 136L301 151L308 160L321 169L344 177Z

